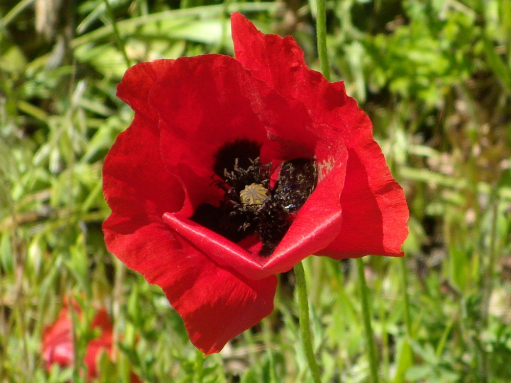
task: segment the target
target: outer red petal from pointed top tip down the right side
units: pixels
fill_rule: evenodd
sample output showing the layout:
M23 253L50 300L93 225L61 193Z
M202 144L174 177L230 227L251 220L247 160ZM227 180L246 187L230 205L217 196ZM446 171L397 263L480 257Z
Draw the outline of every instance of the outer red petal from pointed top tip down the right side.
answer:
M368 117L347 97L343 83L330 83L309 69L292 38L265 35L239 13L231 16L231 24L236 59L285 98L304 103L312 119L339 132L349 148L343 225L323 254L402 255L408 233L404 193L390 175Z

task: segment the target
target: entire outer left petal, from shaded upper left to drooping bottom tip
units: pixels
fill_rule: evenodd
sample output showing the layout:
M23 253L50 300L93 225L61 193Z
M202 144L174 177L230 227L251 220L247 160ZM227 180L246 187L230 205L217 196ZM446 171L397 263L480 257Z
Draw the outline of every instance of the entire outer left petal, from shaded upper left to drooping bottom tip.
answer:
M103 224L105 243L129 268L164 289L197 348L218 352L271 312L276 278L249 281L219 267L162 220L165 212L182 210L186 193L166 170L159 134L150 124L136 114L105 160L104 194L112 208ZM212 326L211 318L225 321Z

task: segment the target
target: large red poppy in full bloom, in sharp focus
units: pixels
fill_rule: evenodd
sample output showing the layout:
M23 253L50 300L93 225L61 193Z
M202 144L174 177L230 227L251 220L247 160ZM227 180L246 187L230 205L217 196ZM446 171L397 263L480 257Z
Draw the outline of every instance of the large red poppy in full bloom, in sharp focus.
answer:
M236 59L128 69L135 115L105 159L109 251L158 284L206 354L273 308L310 254L401 256L408 209L371 122L291 37L231 17Z

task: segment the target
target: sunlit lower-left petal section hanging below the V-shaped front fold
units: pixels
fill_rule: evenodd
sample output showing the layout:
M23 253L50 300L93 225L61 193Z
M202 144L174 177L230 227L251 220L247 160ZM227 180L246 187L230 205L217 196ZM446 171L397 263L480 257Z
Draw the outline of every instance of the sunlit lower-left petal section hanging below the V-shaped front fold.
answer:
M276 277L253 281L220 267L163 222L141 226L112 213L104 231L111 252L165 291L190 340L206 354L273 309Z

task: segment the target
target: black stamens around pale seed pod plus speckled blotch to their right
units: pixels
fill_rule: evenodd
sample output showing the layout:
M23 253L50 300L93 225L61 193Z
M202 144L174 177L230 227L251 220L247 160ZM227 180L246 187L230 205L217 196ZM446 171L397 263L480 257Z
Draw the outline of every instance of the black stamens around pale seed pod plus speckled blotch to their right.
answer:
M225 191L220 226L243 236L257 233L262 256L275 250L317 182L314 161L306 158L284 161L271 188L270 169L271 163L262 165L259 157L250 159L246 169L235 159L233 170L224 169L223 180L214 182ZM247 197L249 193L259 197Z

